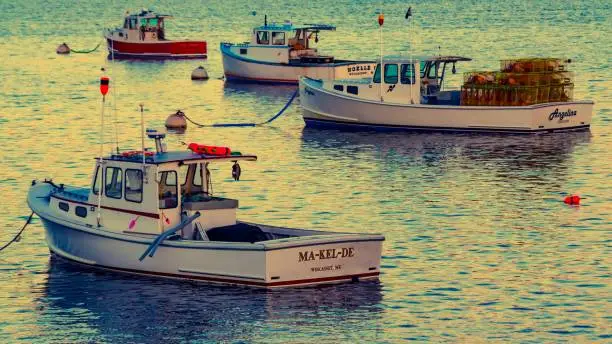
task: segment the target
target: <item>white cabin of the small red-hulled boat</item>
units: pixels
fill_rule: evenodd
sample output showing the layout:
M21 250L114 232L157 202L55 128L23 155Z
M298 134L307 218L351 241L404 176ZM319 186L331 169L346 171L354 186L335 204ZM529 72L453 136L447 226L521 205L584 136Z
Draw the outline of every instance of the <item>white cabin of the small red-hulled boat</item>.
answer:
M137 14L126 13L123 26L111 31L111 37L126 41L164 41L164 20L170 17L149 10L142 10Z

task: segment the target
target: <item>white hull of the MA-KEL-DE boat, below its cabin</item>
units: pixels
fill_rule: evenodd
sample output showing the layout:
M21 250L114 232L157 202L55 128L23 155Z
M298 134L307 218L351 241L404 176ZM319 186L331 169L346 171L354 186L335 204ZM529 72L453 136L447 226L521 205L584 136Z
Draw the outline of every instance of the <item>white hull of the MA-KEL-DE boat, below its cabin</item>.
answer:
M36 185L28 195L49 249L96 268L264 288L375 279L380 271L384 237L325 232L256 243L166 240L153 257L139 261L156 236L74 221L49 208L50 191L49 185Z

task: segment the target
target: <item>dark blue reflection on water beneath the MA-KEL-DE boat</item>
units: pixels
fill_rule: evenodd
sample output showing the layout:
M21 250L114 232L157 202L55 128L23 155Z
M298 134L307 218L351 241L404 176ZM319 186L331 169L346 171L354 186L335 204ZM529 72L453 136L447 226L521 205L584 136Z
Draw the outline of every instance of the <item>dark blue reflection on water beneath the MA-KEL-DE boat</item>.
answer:
M307 338L301 326L313 322L329 328L330 337L338 322L376 329L381 299L378 282L265 291L101 273L52 257L37 303L42 333L68 326L61 315L77 313L79 332L96 341L251 342L269 337L264 326L292 331L296 340Z

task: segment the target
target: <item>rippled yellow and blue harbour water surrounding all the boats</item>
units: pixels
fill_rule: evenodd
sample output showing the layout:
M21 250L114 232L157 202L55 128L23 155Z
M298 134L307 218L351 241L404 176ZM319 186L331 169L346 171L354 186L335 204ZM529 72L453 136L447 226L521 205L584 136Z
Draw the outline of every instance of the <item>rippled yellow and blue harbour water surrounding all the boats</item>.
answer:
M378 2L376 2L378 3ZM207 61L114 65L87 49L142 2L0 0L0 243L29 214L29 182L87 185L99 150L100 67L113 78L120 146L183 109L199 122L259 121L292 87L225 85L218 44L271 20L336 24L320 48L373 58L370 1L166 1L169 37L204 37ZM0 253L0 342L609 342L612 235L612 5L609 1L385 1L385 50L467 55L459 72L515 56L564 56L590 132L541 136L377 134L304 129L298 106L270 127L196 129L180 141L259 155L213 171L242 219L384 233L380 282L262 292L83 271L51 259L40 221ZM252 16L251 11L257 11ZM189 80L199 64L207 82ZM459 82L461 74L451 83ZM107 126L112 141L114 128ZM561 202L567 193L586 199Z

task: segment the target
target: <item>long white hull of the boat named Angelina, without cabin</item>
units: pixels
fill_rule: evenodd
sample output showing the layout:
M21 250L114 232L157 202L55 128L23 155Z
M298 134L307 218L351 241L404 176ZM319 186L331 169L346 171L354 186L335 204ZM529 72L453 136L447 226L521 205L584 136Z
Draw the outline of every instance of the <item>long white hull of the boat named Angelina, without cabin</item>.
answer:
M537 133L586 130L593 102L521 107L443 106L381 103L345 96L300 80L300 104L307 126L382 130Z

